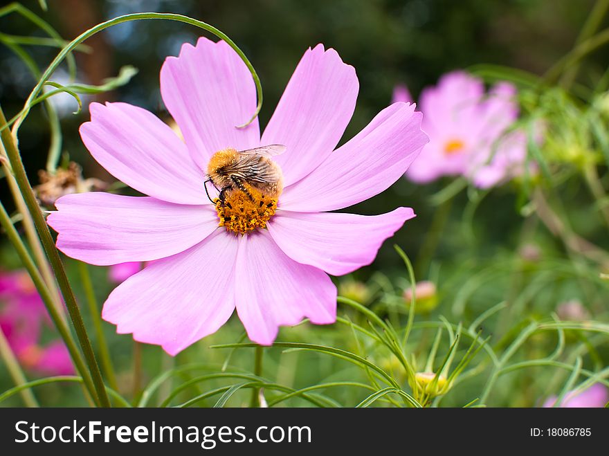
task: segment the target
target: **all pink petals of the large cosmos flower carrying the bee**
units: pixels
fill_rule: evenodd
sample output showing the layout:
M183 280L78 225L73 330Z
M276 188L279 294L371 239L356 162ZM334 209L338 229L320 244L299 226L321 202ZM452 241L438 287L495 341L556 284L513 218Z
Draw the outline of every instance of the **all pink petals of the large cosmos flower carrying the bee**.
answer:
M300 60L262 136L257 119L239 129L256 107L251 74L228 44L200 38L161 69L161 95L183 141L144 109L91 104L91 122L80 128L87 149L148 196L62 197L48 217L57 247L98 265L156 260L109 295L103 318L170 354L217 331L235 307L261 345L303 318L334 322L336 286L328 274L370 264L415 215L410 208L371 217L326 211L388 188L427 142L421 114L395 103L334 150L357 93L353 67L318 45ZM203 187L210 157L272 144L287 147L273 157L284 176L275 214L243 235L219 226Z

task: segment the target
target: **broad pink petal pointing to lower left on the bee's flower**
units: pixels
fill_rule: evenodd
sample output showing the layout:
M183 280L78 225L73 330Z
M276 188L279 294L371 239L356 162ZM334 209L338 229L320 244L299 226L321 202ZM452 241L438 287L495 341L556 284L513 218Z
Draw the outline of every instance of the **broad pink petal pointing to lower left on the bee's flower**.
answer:
M118 334L133 333L171 355L181 352L233 313L237 246L221 228L185 252L148 264L109 295L102 317Z

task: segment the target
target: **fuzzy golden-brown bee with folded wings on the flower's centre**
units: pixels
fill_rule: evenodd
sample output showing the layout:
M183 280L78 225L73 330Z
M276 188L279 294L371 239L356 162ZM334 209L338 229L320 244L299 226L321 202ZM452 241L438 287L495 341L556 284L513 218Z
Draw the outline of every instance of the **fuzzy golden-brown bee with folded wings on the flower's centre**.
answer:
M285 149L284 145L271 144L242 151L223 149L216 152L210 158L208 179L203 183L207 197L215 203L207 188L207 183L211 182L218 191L222 206L226 192L230 190L240 190L252 201L253 189L271 199L278 199L283 190L283 174L271 157L282 154Z

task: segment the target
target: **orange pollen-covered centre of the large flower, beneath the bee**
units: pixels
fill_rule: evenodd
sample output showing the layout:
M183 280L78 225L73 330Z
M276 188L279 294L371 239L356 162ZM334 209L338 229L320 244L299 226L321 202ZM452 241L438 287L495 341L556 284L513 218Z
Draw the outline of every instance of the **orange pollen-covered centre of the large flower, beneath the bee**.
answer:
M275 215L277 200L251 188L249 194L241 190L229 190L224 194L224 203L214 200L220 219L219 226L239 234L256 228L266 228L266 222Z

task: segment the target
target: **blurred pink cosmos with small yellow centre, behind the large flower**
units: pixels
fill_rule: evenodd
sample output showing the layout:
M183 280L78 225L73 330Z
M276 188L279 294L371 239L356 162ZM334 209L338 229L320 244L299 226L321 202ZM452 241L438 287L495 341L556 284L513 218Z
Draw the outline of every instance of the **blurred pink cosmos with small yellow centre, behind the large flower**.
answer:
M499 82L484 93L484 84L462 71L448 73L437 86L421 93L419 109L429 144L406 176L426 183L440 176L463 175L480 188L489 188L522 172L527 138L507 133L518 117L516 87ZM410 100L397 86L394 101Z

